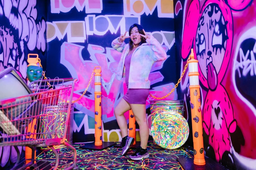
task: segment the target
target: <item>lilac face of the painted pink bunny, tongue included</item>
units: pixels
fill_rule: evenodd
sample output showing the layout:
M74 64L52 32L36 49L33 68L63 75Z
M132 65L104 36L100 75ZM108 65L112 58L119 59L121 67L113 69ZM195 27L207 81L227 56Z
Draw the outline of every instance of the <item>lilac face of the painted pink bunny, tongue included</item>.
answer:
M214 90L217 75L223 62L227 46L227 22L217 4L208 5L199 20L196 32L196 56L202 76ZM208 74L209 73L209 74Z

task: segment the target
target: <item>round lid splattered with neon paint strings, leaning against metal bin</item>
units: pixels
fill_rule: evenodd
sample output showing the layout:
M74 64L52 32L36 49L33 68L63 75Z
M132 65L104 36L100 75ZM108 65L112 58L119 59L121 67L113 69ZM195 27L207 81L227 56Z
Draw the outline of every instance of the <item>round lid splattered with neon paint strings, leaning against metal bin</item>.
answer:
M164 149L177 149L188 139L189 126L186 119L176 112L158 114L151 125L151 133L157 145Z

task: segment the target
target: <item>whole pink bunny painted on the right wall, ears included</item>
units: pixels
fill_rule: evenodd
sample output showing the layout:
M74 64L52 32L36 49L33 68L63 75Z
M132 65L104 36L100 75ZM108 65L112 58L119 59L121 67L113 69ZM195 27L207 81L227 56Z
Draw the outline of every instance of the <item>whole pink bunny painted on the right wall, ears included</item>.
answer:
M191 48L196 51L200 82L209 89L202 110L206 154L222 164L228 161L227 166L233 166L231 143L238 153L241 145L245 145L229 95L221 84L233 40L230 8L243 10L250 1L227 0L226 4L224 0L208 0L200 9L199 1L193 0L187 11L182 39L182 58L187 59Z

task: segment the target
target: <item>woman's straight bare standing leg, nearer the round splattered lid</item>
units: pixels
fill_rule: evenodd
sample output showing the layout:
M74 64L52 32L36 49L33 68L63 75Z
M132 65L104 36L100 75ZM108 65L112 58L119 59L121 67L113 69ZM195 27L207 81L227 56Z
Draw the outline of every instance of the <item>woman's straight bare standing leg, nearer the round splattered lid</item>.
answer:
M146 149L149 136L149 129L146 118L146 105L130 104L131 110L140 127L141 148Z

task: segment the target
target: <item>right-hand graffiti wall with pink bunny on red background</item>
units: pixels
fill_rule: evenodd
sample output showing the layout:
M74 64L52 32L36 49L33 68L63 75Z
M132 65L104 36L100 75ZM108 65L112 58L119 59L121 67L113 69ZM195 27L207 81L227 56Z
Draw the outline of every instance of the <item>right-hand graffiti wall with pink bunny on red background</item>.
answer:
M177 77L193 48L199 64L204 152L230 169L256 169L255 9L255 0L174 1ZM188 87L187 77L178 91L190 110L193 94ZM189 116L188 121L192 128Z

